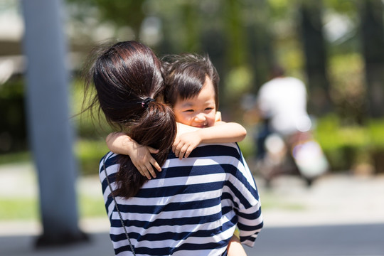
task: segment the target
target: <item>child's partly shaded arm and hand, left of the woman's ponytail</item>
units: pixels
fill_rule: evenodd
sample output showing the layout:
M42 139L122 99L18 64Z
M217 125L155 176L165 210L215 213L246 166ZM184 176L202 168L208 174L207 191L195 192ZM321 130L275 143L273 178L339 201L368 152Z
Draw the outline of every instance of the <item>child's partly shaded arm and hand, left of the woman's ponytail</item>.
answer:
M156 173L152 166L157 171L161 171L161 167L151 154L159 153L159 149L143 146L131 139L127 134L122 132L112 132L105 139L108 149L116 154L126 154L132 160L132 164L139 170L142 176L151 179L151 176L156 178Z

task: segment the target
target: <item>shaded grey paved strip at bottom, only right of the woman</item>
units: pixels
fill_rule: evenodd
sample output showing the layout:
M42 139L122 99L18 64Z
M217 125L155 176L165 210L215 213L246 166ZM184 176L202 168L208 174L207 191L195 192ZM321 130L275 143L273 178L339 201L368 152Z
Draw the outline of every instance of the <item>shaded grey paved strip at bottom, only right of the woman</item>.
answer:
M265 228L248 256L384 255L384 224Z

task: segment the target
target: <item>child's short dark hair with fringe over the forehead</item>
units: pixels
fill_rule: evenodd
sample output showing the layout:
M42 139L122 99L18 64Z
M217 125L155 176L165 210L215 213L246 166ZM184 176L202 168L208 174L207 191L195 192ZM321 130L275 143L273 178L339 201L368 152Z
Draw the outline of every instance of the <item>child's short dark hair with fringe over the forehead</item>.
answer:
M182 53L181 55L166 55L164 58L166 70L166 102L174 107L178 97L186 100L195 97L203 88L206 77L210 78L215 89L215 105L218 108L218 71L213 66L208 55Z

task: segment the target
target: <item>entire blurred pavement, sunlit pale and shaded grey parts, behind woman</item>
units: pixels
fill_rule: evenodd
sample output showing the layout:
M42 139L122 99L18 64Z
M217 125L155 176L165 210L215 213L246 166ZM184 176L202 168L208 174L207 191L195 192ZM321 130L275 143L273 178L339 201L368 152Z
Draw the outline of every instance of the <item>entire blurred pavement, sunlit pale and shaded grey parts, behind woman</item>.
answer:
M255 247L245 246L247 255L384 255L383 175L326 175L311 188L294 176L277 178L269 189L256 181L265 228ZM97 177L78 179L78 193L100 191ZM37 193L31 165L0 166L0 198ZM81 219L80 228L89 242L36 250L39 223L0 220L0 255L113 255L106 218Z

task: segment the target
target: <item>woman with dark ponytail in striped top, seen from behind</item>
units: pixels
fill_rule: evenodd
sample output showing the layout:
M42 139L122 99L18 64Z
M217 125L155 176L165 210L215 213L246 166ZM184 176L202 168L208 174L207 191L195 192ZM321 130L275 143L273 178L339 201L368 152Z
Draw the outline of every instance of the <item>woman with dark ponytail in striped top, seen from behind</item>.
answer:
M117 43L98 55L89 77L87 88L93 81L97 90L92 105L100 102L107 121L160 151L162 171L145 183L129 156L110 152L101 161L115 254L226 255L237 224L240 240L252 246L262 228L260 201L240 149L206 144L183 160L171 153L176 122L161 100L154 53L134 41Z

